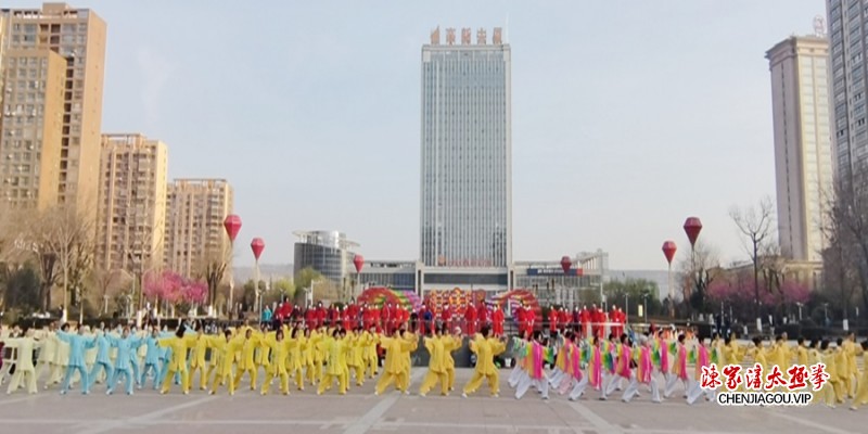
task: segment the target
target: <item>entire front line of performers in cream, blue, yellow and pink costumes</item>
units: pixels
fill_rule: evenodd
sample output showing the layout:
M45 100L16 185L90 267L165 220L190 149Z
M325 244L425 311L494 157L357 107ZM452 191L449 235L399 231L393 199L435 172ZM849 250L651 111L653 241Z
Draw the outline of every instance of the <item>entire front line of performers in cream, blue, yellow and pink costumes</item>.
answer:
M454 388L455 360L451 354L461 347L464 339L460 330L446 331L438 328L422 341L431 358L420 395L424 396L437 384L443 395L448 395ZM227 329L219 335L206 335L201 328L190 331L184 326L179 327L175 334L152 330L144 335L133 333L129 328L97 333L82 328L77 333L69 333L68 327L64 326L56 332L37 335L27 331L23 337L4 337L3 342L16 348L18 355L9 392L25 383L30 393L36 393L36 379L48 369L46 387L56 384L63 376L63 394L76 374L82 393L87 394L103 373L107 379L106 393L111 394L117 380L125 378L127 393L132 394L133 383L143 386L151 371L155 372L154 387L161 387L163 393L169 391L176 376L181 391L189 393L190 382L199 373L200 387L206 390L210 383L212 394L220 385L227 385L229 393L234 393L245 376L250 379L251 390L258 386L263 394L271 387L273 379L280 380L280 390L284 394L289 394L290 379L299 391L306 383L316 384L318 393L327 392L336 381L339 393L345 394L352 378L355 378L356 385L361 385L366 378L373 379L378 373L379 345L386 355L383 374L375 388L376 394L382 394L393 383L398 391L409 393L410 354L417 349L419 339L404 326L392 335L360 328L347 331L340 327L316 331L286 327L260 331L244 327ZM473 376L464 386L463 396L476 392L485 380L492 395L498 396L499 375L494 358L506 350L506 341L494 337L492 330L483 327L480 333L470 337L469 344L477 362ZM137 350L140 347L144 348L143 357ZM42 349L38 368L34 367L31 359L35 348ZM714 337L710 342L707 337L694 340L681 334L669 340L665 331L640 336L637 344L627 335L587 340L572 332L548 342L537 331L525 339L514 340L513 354L518 356L518 362L509 384L516 388L516 398L535 387L547 399L549 388L554 387L561 394L569 392L571 399L577 399L590 386L599 392L601 399L607 399L626 381L624 401L638 396L641 384L651 392L652 401L668 398L680 384L684 398L693 404L703 395L706 399L714 396L714 391L700 386L703 368L712 365L720 367L717 368L719 372L725 365L751 362L760 363L765 372L773 372L775 366L788 366L791 361L803 366L822 362L829 378L828 383L815 392L820 398L816 401L822 400L834 407L850 398L855 409L868 404L868 372L863 370L860 373L855 362L858 355L868 359L866 348L868 344L857 345L853 335L839 340L837 345L826 341L806 344L799 340L797 345L790 346L786 336L778 336L770 345L765 345L758 337L751 345L740 345L735 336L726 341ZM97 357L88 365L87 353L93 349ZM52 350L54 362L46 361ZM207 350L212 354L209 359L205 356ZM62 354L66 359L58 358ZM546 367L550 365L553 369L548 371ZM692 373L689 366L694 367ZM260 370L266 373L266 379L259 385ZM65 374L61 375L62 372ZM658 378L663 382L662 387Z

